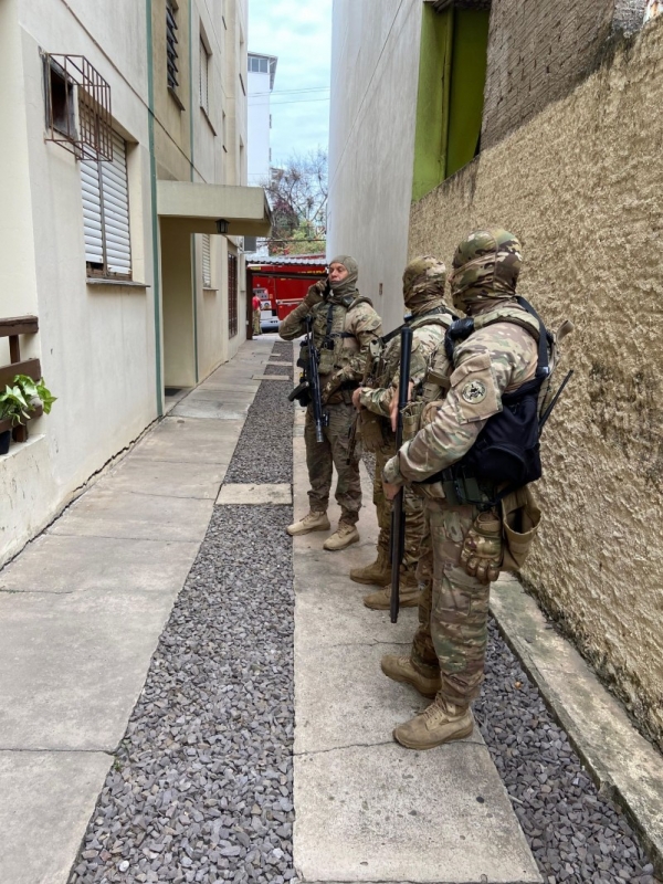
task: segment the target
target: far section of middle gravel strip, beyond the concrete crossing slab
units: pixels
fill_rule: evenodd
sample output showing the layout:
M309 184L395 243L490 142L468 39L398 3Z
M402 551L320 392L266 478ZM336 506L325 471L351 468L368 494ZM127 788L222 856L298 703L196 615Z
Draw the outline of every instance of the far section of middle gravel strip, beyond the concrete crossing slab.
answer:
M272 356L280 362L292 361L291 344L275 344ZM265 375L285 375L292 371L285 366L264 368ZM225 484L280 483L293 481L293 403L287 394L293 385L285 381L264 380L257 388L255 399L240 435Z

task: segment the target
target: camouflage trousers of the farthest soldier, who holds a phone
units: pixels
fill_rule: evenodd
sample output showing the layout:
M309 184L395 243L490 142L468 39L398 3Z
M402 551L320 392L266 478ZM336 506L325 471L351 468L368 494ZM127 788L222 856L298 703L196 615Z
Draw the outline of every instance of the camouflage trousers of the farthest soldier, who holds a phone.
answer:
M336 467L336 502L340 506L340 520L354 525L361 508L361 482L359 480L359 451L348 463L349 432L355 419L351 403L338 402L326 406L329 423L323 431L323 442L315 441L313 406L306 409L304 441L306 443L306 466L308 467L308 504L311 509L326 512L332 491L333 466Z

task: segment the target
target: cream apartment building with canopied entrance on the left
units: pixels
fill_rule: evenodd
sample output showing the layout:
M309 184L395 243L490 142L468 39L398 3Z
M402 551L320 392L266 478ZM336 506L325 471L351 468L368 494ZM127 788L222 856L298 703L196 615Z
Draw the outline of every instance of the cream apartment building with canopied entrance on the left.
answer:
M245 339L245 72L246 0L0 2L0 387L57 397L0 456L0 565Z

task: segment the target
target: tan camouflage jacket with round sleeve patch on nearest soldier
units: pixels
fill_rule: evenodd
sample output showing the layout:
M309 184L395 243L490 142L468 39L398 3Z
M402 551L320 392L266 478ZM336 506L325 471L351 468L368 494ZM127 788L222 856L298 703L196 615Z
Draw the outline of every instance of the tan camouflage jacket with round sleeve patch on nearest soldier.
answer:
M537 343L514 323L497 322L474 332L456 346L453 366L439 347L430 373L439 390L449 387L446 396L424 407L424 425L387 463L385 480L397 485L423 482L460 461L488 418L502 411L502 394L530 380L536 367ZM431 386L435 383L427 382L429 390Z

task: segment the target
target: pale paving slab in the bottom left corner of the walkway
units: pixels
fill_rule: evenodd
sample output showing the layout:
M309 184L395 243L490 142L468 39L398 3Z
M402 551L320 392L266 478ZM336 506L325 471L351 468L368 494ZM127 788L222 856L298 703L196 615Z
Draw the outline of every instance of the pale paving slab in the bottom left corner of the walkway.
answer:
M3 884L64 884L112 761L103 753L0 751Z

